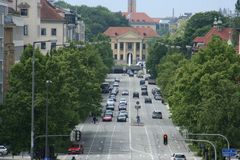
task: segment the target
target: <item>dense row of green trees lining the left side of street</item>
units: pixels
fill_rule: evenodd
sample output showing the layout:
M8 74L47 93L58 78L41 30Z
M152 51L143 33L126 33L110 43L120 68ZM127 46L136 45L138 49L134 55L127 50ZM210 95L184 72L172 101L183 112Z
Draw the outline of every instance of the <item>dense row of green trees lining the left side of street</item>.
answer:
M46 80L49 85L49 135L70 134L75 125L85 120L90 112L98 113L102 101L100 84L113 65L109 39L100 44L77 48L75 44L52 50L46 56L36 55L35 134L45 133ZM32 46L28 46L19 63L10 73L6 102L1 106L0 142L13 152L29 151L31 128L31 72ZM106 64L106 65L105 65ZM49 138L49 144L63 146L69 138ZM44 146L44 139L35 141L36 148Z

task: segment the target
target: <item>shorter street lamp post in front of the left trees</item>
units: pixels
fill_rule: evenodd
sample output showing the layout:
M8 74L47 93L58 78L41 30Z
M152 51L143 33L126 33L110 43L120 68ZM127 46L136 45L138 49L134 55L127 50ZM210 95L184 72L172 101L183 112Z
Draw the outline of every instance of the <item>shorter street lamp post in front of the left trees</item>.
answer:
M45 160L48 160L48 90L49 84L51 83L52 81L50 80L46 81L47 97L46 97Z

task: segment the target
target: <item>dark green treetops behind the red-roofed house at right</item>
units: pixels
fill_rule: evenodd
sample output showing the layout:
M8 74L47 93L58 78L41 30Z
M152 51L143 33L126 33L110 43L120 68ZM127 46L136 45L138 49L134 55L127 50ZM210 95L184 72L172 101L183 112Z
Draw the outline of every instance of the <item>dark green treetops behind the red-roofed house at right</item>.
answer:
M205 35L212 27L214 18L221 18L223 25L227 25L228 19L223 17L219 12L211 11L196 13L187 22L184 34L185 44L190 44L197 36Z

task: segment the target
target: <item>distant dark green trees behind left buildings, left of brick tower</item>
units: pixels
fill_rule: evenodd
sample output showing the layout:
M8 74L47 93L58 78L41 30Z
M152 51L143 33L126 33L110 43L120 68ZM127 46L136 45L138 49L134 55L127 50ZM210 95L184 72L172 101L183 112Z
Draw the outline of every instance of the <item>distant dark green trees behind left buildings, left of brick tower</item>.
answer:
M63 1L58 1L55 5L60 8L69 8L81 15L81 19L86 24L86 38L90 41L94 36L103 33L110 26L128 26L128 20L121 13L113 13L102 6L72 6Z

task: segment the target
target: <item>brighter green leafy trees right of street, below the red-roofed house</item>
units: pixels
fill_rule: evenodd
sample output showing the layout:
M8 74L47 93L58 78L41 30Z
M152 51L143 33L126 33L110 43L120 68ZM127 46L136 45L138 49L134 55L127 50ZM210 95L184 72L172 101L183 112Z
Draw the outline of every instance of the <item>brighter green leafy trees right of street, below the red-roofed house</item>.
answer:
M240 57L234 48L214 37L206 48L183 62L177 63L178 66L163 59L159 65L162 73L159 73L158 83L165 85L163 91L173 121L190 132L223 134L232 146L240 147L237 136L240 134ZM173 69L169 69L170 65ZM167 73L168 81L162 78ZM222 141L211 140L217 141L218 147L224 146Z

